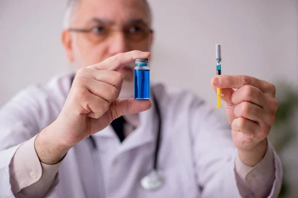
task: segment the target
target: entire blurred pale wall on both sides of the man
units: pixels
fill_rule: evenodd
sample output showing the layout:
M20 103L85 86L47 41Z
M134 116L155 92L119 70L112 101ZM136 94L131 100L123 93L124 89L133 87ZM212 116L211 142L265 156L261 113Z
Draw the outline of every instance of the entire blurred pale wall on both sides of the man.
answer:
M65 3L0 1L0 106L29 84L71 69L60 42ZM215 44L220 43L223 74L272 83L282 79L298 87L298 0L149 3L156 33L152 79L193 90L215 105L210 80L216 74Z

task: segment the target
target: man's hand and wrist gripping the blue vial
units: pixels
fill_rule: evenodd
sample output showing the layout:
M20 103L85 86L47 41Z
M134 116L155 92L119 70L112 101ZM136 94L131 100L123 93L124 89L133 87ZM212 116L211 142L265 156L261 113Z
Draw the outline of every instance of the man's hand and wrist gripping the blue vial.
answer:
M117 72L134 59L149 56L149 52L130 51L79 69L57 120L36 138L40 160L57 163L76 143L103 130L114 119L149 109L150 100L118 99L123 75Z

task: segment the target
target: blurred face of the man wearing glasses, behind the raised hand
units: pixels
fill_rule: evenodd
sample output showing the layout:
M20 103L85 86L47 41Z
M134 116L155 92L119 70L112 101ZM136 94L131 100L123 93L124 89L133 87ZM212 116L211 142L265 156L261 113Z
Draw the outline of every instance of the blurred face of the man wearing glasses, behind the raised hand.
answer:
M74 8L71 28L72 54L76 68L85 67L131 50L149 51L152 43L150 14L143 0L80 0ZM119 72L133 81L134 64Z

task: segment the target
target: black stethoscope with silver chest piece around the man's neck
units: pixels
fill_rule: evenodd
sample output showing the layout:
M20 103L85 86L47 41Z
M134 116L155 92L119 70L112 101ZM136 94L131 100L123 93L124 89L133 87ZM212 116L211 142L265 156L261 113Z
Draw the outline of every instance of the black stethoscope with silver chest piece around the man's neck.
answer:
M158 153L159 153L159 145L160 145L160 134L161 134L161 115L160 115L160 109L159 109L156 98L154 96L152 96L152 99L155 104L154 107L155 107L155 111L157 113L157 118L158 118L158 131L157 131L157 137L156 137L156 142L155 142L153 168L148 175L146 175L145 177L143 177L141 179L141 186L148 191L158 190L164 184L164 175L161 171L159 171L157 169ZM96 150L97 147L96 147L94 138L92 136L89 136L88 139L92 143L94 150ZM94 159L96 168L101 169L100 159L99 159L98 154L95 152L92 152L92 153L93 153L93 159ZM98 179L103 179L102 170L97 171L97 177L98 177ZM101 181L101 184L103 184L103 181ZM100 188L101 188L100 193L104 194L104 185L100 185ZM102 195L100 197L105 197L105 196Z

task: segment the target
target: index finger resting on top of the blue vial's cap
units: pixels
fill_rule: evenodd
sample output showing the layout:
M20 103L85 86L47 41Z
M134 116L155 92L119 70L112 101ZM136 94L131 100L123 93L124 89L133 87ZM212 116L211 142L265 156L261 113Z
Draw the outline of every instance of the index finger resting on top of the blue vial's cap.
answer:
M118 71L122 67L133 62L137 58L149 58L149 57L150 57L150 52L133 50L125 53L118 53L116 55L113 55L105 59L100 63L90 65L87 68Z

